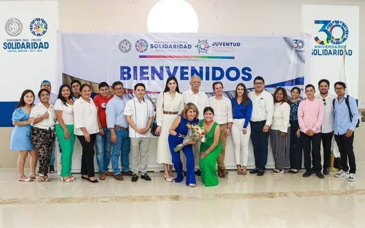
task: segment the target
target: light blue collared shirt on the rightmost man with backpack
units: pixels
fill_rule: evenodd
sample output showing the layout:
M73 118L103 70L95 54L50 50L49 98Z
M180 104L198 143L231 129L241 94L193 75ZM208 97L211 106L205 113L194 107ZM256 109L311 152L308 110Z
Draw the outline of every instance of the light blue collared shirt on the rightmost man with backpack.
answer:
M354 131L359 115L357 110L356 101L353 97L349 97L349 106L352 113L352 122L350 121L350 113L348 107L346 105L345 98L347 95L338 101L338 98L335 99L335 108L334 108L334 134L335 135L343 135L346 134L347 130ZM331 103L333 106L333 104Z

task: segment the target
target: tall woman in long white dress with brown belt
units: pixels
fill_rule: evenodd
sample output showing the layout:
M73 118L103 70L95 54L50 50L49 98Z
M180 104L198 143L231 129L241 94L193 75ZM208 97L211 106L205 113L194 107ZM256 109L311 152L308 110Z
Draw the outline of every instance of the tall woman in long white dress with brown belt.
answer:
M184 108L182 94L179 91L175 77L169 77L166 81L165 90L159 94L156 106L157 129L156 134L160 135L157 142L157 163L164 164L165 180L171 182L172 158L168 145L169 128L178 113Z

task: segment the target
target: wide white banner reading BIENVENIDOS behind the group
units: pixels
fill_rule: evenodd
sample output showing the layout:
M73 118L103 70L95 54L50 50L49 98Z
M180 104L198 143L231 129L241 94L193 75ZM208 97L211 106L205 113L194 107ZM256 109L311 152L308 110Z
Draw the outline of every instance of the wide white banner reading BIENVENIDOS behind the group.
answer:
M238 83L253 88L262 76L268 90L303 86L309 72L309 35L253 36L204 33L61 33L64 81L73 78L97 85L122 81L127 92L144 83L154 102L168 77L180 92L190 78L201 78L201 90L212 95L220 81L228 96ZM93 87L93 92L98 92ZM210 94L209 94L210 93ZM233 94L234 96L234 94Z

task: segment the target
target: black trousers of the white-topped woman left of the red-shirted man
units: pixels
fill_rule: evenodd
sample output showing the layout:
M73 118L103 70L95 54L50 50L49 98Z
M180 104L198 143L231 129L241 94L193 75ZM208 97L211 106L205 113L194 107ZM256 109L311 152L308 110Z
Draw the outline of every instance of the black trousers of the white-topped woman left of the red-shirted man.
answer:
M83 147L81 157L81 174L89 177L95 176L94 172L94 143L96 134L90 134L90 142L85 140L85 136L78 135L81 146Z

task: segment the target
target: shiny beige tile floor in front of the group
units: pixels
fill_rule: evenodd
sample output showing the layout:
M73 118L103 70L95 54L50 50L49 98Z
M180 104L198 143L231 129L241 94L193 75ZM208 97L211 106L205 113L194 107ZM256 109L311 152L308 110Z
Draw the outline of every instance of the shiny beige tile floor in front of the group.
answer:
M16 169L0 169L0 227L365 227L365 162L357 181L285 173L263 177L230 171L220 184L195 188L112 177L93 184L24 183Z

